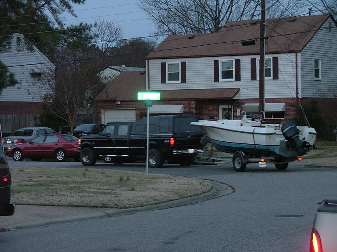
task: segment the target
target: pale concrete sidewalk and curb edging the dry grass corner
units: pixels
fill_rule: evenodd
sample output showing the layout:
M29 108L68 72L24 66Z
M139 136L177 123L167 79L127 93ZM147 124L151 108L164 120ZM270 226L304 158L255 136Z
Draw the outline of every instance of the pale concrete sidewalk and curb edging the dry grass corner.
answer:
M139 211L155 211L160 209L189 205L209 199L221 197L233 192L233 189L224 183L209 181L213 189L210 192L166 203L129 209L85 208L85 207L58 207L16 205L13 216L0 217L0 232L39 227L54 223L73 222L85 219L108 218L131 214ZM15 203L15 202L13 202Z

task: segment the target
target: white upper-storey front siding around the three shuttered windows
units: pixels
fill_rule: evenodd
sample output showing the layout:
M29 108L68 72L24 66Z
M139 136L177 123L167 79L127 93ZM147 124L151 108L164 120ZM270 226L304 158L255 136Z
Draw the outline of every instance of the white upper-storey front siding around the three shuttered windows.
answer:
M259 80L251 80L251 58L259 56L240 57L200 57L180 58L174 62L186 61L186 83L161 83L161 63L172 60L149 60L149 83L151 90L179 90L179 89L209 89L209 88L240 88L236 99L249 99L259 97ZM296 74L294 67L295 54L273 54L266 58L278 57L279 79L265 81L266 98L294 98L296 97ZM240 59L240 81L214 80L214 61L226 59Z

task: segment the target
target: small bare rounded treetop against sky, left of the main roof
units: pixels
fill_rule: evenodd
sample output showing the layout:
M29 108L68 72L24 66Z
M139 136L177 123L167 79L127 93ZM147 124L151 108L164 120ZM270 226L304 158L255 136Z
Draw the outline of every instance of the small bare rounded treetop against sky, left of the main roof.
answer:
M106 53L109 48L113 47L124 34L122 28L113 21L98 20L95 22L92 30L96 34L93 42L104 53Z

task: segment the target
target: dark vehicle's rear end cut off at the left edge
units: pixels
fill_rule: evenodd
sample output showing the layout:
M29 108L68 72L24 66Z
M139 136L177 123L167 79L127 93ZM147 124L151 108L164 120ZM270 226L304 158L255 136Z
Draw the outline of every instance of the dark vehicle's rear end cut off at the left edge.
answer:
M12 184L11 174L7 159L0 147L0 216L13 215L15 205L10 204L10 186Z

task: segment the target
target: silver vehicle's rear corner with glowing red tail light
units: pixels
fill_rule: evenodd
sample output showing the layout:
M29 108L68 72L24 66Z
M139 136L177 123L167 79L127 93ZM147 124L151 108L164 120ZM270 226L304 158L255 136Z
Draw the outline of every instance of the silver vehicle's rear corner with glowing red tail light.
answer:
M309 252L337 251L337 200L318 203L310 238Z

